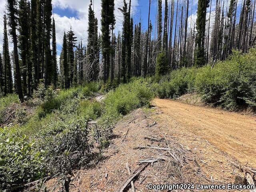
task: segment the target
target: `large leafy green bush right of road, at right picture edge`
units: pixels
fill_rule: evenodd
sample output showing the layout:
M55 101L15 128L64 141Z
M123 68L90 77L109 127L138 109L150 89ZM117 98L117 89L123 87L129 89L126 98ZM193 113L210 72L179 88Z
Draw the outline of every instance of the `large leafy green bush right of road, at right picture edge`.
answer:
M247 106L256 108L256 49L247 54L234 51L214 68L203 67L196 77L196 90L208 103L227 110Z

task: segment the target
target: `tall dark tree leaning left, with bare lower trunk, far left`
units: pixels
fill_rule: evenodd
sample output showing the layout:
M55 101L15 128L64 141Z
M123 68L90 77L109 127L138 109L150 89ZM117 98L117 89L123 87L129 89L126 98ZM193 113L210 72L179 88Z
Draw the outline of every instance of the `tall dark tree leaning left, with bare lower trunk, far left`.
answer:
M19 65L19 59L18 59L18 42L17 42L17 34L16 34L16 27L17 27L17 21L16 21L16 15L17 15L17 2L16 0L7 0L8 2L8 16L9 16L9 25L11 28L11 35L12 35L12 41L14 45L14 61L15 61L15 76L16 76L16 84L17 84L17 90L18 90L18 96L20 99L20 102L24 102L23 93L22 93L22 84L21 84L21 78L20 78L20 65Z

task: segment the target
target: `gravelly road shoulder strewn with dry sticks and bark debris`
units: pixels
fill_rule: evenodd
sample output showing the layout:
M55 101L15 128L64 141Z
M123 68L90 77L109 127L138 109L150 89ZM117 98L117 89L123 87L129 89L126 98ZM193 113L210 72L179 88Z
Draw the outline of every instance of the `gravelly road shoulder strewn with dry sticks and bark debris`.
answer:
M166 126L156 113L138 109L120 120L103 159L74 171L69 191L144 192L152 191L150 183L226 184L233 183L236 175L243 176L234 172L218 148L201 138L191 141L195 136L189 133L179 138L172 129L181 125ZM49 189L56 184L56 179L47 182Z

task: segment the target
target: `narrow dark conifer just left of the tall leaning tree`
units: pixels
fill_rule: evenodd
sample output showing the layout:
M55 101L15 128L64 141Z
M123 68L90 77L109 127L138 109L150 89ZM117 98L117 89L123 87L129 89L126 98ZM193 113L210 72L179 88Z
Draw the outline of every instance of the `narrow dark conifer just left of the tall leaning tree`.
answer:
M6 15L4 15L4 43L3 43L3 70L4 70L4 95L7 93L12 93L12 70L9 54L9 43L7 34L7 20Z

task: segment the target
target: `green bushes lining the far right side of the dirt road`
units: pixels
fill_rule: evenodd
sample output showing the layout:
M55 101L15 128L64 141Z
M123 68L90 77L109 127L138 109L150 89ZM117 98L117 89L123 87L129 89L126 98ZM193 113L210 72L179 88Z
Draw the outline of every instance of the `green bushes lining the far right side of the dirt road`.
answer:
M208 104L226 110L256 109L256 49L234 51L226 61L202 68L182 68L161 78L160 98L177 98L197 92Z

